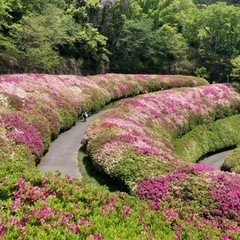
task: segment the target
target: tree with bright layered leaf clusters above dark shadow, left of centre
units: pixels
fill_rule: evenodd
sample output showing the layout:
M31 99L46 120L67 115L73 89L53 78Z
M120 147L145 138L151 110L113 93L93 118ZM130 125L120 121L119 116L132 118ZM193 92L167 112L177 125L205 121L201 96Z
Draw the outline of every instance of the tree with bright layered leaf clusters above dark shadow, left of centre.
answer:
M98 30L101 11L98 0L73 1L67 11L74 19L74 28L70 41L59 46L59 51L80 63L85 73L104 73L108 69L107 38Z

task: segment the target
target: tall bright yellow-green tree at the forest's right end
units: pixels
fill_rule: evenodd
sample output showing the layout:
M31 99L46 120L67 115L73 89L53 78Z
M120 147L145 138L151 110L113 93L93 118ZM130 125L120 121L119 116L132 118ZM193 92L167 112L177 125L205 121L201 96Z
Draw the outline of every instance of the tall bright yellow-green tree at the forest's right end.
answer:
M212 81L227 79L231 59L240 51L240 8L217 3L195 11L184 29L198 67L205 67Z

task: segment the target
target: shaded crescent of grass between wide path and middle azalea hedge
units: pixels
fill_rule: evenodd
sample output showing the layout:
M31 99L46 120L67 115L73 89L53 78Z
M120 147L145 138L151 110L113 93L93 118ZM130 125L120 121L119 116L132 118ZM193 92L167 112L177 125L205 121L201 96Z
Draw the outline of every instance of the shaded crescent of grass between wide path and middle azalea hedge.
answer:
M106 186L110 192L129 192L123 182L99 171L83 149L80 149L78 152L78 165L80 173L86 182L98 186Z

